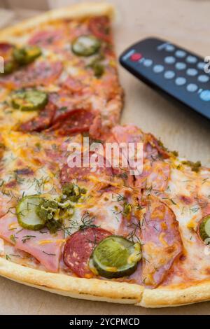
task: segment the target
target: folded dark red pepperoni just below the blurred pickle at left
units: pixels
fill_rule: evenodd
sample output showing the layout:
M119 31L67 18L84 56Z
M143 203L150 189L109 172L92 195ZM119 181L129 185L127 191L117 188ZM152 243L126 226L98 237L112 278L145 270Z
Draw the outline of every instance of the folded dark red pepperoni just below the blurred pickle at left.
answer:
M56 107L54 104L48 103L45 109L41 111L36 118L22 123L19 129L22 132L41 132L50 127L52 119L55 115Z

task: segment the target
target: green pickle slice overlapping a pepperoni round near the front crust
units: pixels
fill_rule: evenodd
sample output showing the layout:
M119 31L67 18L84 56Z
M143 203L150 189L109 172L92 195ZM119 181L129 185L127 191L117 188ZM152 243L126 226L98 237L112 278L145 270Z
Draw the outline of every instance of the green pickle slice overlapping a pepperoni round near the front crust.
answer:
M139 260L141 245L138 242L111 235L94 248L90 258L90 269L107 279L119 278L134 273Z

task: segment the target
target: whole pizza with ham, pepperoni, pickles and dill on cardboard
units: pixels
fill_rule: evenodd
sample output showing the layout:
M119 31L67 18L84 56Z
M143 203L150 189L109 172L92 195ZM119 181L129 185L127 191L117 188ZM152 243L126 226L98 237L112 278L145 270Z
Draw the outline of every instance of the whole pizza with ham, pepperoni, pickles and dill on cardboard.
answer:
M210 169L119 125L112 17L83 3L1 31L0 274L143 307L209 300Z

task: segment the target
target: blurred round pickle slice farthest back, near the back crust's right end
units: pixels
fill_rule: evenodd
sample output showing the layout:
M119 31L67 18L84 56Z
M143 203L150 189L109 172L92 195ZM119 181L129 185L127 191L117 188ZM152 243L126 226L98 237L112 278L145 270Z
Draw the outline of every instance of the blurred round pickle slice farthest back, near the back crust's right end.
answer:
M72 51L78 56L91 56L99 51L101 42L95 36L78 36L71 46Z

